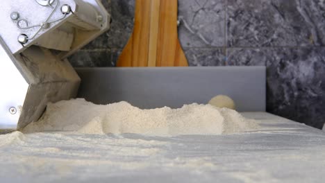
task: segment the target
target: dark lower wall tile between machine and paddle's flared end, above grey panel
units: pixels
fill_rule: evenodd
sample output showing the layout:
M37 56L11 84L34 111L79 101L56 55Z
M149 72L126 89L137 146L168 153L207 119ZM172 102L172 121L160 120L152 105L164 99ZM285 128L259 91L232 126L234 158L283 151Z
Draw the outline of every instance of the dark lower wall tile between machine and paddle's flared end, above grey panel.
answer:
M68 58L73 67L112 67L112 55L109 49L80 50Z

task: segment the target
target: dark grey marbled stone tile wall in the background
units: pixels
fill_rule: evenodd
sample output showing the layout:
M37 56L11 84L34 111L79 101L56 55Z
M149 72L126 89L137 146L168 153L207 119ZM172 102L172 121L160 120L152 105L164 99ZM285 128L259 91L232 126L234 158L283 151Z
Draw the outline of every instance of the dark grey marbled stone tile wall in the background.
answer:
M70 58L114 67L133 29L135 0L102 0L110 30ZM178 0L178 36L190 66L267 67L267 111L325 123L324 0Z

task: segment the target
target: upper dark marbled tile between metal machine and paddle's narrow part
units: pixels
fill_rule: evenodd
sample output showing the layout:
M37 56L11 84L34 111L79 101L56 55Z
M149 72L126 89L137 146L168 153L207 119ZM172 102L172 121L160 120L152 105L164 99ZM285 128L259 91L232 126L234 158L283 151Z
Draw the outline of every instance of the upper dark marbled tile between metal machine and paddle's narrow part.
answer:
M108 31L108 46L122 49L133 32L135 0L111 0L112 24Z

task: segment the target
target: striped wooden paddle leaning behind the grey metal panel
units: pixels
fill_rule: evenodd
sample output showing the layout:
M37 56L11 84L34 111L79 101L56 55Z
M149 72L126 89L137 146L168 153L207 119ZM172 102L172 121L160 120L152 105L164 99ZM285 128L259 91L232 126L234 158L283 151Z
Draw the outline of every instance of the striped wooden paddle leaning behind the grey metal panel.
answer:
M177 0L136 0L133 33L117 67L188 66L177 33Z

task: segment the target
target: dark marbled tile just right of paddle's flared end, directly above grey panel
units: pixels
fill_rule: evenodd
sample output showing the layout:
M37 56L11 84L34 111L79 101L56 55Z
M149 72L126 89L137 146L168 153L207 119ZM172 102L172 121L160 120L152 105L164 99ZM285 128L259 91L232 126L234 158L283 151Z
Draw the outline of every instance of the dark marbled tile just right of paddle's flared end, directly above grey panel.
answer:
M224 49L188 48L184 52L189 66L222 66L226 58Z

